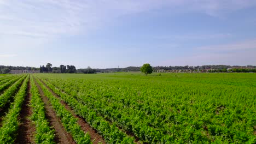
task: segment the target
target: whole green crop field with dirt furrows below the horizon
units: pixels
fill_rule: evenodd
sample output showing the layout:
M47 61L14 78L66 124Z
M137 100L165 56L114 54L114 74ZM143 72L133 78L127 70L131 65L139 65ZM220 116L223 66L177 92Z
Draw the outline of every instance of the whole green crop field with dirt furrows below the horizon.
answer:
M256 143L256 75L0 75L0 143Z

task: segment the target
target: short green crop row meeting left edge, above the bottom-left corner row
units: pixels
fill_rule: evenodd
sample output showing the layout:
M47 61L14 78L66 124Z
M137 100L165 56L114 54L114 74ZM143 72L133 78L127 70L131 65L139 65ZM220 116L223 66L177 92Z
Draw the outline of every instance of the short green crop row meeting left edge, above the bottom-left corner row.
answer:
M13 95L15 94L16 91L18 91L18 88L22 84L22 81L26 78L27 75L22 76L21 78L18 77L11 82L15 82L12 86L10 86L2 95L0 95L0 109L3 109L3 107L7 104L9 104L12 100Z

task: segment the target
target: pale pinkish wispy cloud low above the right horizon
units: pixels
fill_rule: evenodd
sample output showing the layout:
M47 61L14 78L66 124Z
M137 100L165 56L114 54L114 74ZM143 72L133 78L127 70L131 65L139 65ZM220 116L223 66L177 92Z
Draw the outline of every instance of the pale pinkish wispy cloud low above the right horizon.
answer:
M186 56L161 61L165 65L255 65L256 39L199 47ZM159 64L156 64L159 65Z

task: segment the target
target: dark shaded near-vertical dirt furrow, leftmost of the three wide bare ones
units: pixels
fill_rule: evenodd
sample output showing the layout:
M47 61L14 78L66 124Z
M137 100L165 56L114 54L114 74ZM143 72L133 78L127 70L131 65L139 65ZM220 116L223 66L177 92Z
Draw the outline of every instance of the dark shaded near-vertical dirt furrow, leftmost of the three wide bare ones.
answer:
M15 143L34 143L33 135L36 131L35 125L30 120L30 116L32 115L32 110L30 105L31 101L31 93L30 93L31 85L28 82L27 95L25 97L24 104L22 104L21 112L20 112L20 125L18 129L18 136Z

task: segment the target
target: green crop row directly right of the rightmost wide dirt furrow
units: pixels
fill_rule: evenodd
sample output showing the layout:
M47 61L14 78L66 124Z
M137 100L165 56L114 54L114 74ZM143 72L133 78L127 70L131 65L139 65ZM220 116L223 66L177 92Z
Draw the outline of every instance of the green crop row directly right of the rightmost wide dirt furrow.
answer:
M96 129L108 143L133 143L134 139L120 131L118 127L115 126L115 123L110 124L103 117L98 116L94 110L89 109L88 106L80 103L77 99L67 95L66 93L61 92L59 88L56 88L49 82L44 82L56 94L60 95L60 97L68 103L68 105L70 105L79 116L85 118L91 127Z

